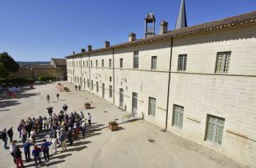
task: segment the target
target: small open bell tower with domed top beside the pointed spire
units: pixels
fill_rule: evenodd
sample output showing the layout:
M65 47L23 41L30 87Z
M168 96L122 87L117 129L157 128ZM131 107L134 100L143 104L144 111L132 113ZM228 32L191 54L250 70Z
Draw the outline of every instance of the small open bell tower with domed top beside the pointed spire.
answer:
M153 13L146 14L144 38L154 36L155 18Z

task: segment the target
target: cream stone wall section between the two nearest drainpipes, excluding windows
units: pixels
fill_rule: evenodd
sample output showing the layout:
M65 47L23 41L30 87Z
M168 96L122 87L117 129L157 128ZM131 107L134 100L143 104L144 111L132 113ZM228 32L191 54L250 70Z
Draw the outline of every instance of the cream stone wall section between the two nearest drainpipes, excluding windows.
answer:
M134 50L139 51L138 69L134 69ZM151 70L151 57L157 56L156 70ZM120 68L120 58L123 67ZM124 90L124 108L132 112L133 92L138 94L138 117L165 126L170 42L150 43L126 49L114 50L115 105L119 106L119 90ZM155 116L149 115L149 98L156 99Z

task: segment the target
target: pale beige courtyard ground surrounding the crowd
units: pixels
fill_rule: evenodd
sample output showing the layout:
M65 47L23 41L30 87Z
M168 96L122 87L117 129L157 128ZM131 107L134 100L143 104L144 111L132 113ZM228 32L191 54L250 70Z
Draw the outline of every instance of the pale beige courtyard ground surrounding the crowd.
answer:
M161 131L162 128L143 120L121 124L120 130L111 132L107 127L108 122L114 119L122 122L122 116L127 113L118 110L110 102L94 94L87 91L75 92L74 86L67 82L63 83L70 87L71 92L60 92L57 84L52 83L35 86L34 90L25 88L18 99L3 99L4 97L0 96L0 129L14 126L14 139L18 138L16 128L22 118L45 116L49 105L54 106L54 112L58 113L64 103L69 106L69 112L84 111L83 103L92 103L94 108L87 110L92 114L93 126L90 133L86 134L86 138L80 138L74 142L74 146L69 146L65 153L51 156L50 162L45 162L44 166L65 168L245 167L222 154L168 131L164 133ZM60 93L60 101L55 97L57 93ZM46 94L50 94L50 104L46 103ZM154 142L149 142L150 139ZM0 167L15 167L9 150L3 150L2 144L0 160ZM25 166L33 167L34 162L25 163Z

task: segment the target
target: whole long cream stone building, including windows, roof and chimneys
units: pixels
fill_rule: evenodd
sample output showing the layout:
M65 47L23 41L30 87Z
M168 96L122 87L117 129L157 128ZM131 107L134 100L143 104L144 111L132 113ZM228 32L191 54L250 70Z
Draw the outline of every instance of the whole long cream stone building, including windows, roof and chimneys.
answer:
M256 11L66 57L68 81L256 165Z

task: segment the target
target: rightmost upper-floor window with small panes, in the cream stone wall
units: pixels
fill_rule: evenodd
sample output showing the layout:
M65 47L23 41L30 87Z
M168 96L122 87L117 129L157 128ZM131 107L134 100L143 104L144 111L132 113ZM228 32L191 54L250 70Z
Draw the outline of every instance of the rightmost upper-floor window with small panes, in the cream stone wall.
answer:
M217 53L217 64L216 64L217 73L227 73L229 71L230 55L231 55L231 51Z

